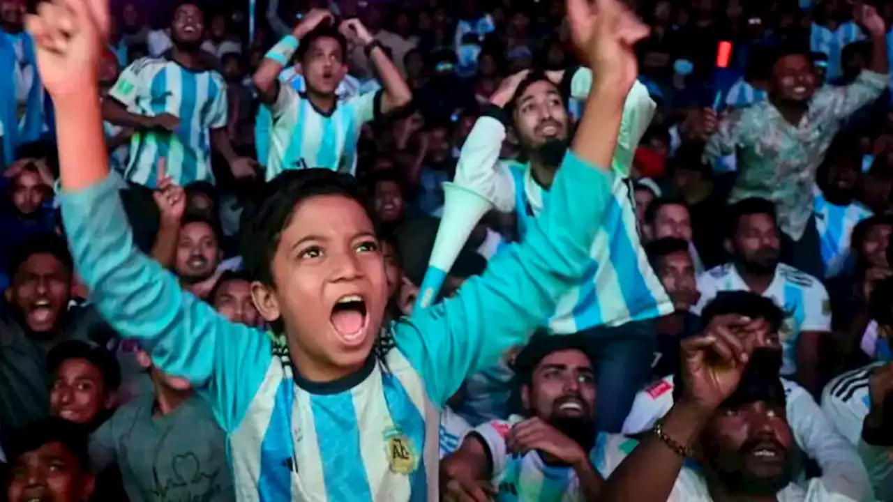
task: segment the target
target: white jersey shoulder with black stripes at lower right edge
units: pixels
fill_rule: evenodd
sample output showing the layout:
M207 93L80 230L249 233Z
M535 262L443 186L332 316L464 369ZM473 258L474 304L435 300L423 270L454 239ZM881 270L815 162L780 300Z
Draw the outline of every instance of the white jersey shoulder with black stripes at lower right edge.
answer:
M853 445L858 445L862 439L862 423L872 406L868 380L872 371L882 364L869 364L845 372L822 390L822 411Z

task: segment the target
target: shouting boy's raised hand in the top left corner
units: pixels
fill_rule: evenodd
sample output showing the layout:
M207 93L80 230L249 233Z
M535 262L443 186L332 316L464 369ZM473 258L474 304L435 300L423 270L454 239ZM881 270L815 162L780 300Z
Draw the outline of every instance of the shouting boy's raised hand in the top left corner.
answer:
M41 2L38 13L26 18L41 82L54 100L82 99L98 88L109 23L108 0ZM92 95L98 99L98 92Z

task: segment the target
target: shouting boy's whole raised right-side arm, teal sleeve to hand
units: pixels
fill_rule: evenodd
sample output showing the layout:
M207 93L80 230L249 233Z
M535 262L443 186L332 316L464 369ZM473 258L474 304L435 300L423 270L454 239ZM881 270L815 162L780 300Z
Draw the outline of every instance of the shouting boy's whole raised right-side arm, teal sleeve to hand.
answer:
M595 13L598 15L595 15ZM494 257L456 297L398 325L397 344L421 365L430 397L443 403L471 372L526 343L557 298L591 275L589 247L612 199L610 171L625 98L638 69L632 45L647 36L618 0L568 0L575 41L596 81L549 204L524 241Z

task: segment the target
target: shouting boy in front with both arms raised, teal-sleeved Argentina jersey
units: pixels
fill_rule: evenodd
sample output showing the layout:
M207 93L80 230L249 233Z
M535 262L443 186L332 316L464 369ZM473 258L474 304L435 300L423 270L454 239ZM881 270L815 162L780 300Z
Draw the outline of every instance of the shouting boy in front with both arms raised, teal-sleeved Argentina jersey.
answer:
M252 297L273 330L232 324L133 247L84 96L108 33L107 0L29 18L56 105L63 218L96 308L163 372L187 378L227 434L241 500L410 500L438 493L438 414L472 372L522 345L588 265L610 198L622 103L647 36L617 0L569 0L597 71L553 202L524 242L455 297L385 326L378 239L352 177L288 172L246 231ZM595 12L598 15L595 15ZM511 294L507 294L511 292Z

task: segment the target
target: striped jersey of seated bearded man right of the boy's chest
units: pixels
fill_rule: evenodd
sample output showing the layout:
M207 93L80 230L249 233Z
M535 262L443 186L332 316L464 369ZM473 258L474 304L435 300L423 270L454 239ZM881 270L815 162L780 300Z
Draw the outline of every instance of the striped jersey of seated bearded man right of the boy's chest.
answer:
M537 451L518 456L505 445L512 427L524 420L512 415L508 420L482 423L474 428L490 452L493 462L491 484L499 490L499 502L576 502L585 500L580 478L572 467L548 465Z

